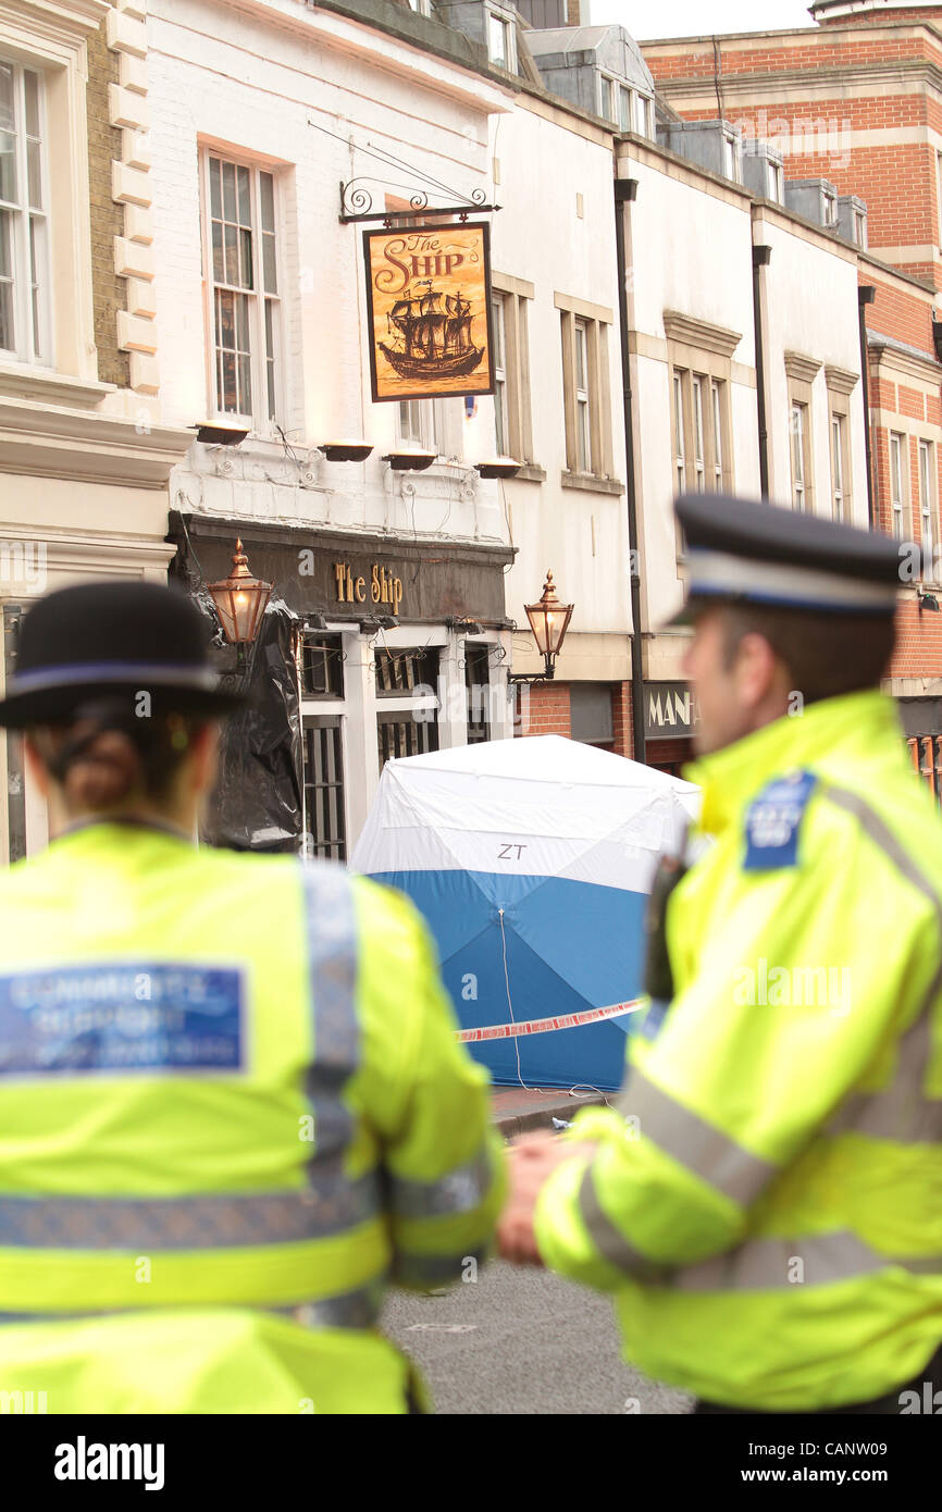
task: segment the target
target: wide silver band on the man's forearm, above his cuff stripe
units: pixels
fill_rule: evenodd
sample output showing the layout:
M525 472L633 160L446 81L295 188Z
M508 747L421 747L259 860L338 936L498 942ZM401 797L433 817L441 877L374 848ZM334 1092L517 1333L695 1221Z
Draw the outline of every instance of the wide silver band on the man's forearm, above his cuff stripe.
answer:
M632 1066L618 1113L638 1120L638 1132L741 1207L755 1202L777 1167L685 1108Z

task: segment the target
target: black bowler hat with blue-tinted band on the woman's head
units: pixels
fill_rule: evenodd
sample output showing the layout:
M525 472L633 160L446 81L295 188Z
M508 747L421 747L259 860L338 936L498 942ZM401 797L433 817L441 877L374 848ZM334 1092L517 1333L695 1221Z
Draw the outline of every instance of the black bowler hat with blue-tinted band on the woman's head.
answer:
M0 726L62 724L95 699L150 694L148 712L224 715L242 703L221 692L209 629L178 588L88 582L59 588L24 617L17 670Z

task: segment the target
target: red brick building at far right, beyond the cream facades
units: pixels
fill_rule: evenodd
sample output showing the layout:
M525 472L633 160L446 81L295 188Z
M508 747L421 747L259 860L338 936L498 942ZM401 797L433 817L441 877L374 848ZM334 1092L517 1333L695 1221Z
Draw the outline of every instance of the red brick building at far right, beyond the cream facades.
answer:
M913 758L939 783L942 614L931 608L942 603L942 5L820 0L810 11L818 24L801 30L643 50L680 116L721 115L744 138L779 148L786 203L788 181L824 180L866 204L854 239L863 243L872 520L921 543L934 562L903 596L889 691Z

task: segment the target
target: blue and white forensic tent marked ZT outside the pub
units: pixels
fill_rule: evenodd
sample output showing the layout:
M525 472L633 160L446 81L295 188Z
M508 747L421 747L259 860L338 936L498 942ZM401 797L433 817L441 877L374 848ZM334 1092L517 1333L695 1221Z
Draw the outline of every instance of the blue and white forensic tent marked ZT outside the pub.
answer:
M428 919L497 1083L618 1087L644 904L700 789L558 735L389 761L352 866Z

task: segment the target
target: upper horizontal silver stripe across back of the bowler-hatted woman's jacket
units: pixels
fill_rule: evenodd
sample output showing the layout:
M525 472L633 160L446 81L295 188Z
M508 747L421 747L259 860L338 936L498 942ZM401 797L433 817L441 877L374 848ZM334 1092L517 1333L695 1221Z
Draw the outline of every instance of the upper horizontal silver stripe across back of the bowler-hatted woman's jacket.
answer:
M0 1196L0 1247L151 1250L225 1249L327 1238L378 1211L375 1173L351 1181L316 1164L298 1191L198 1198Z

